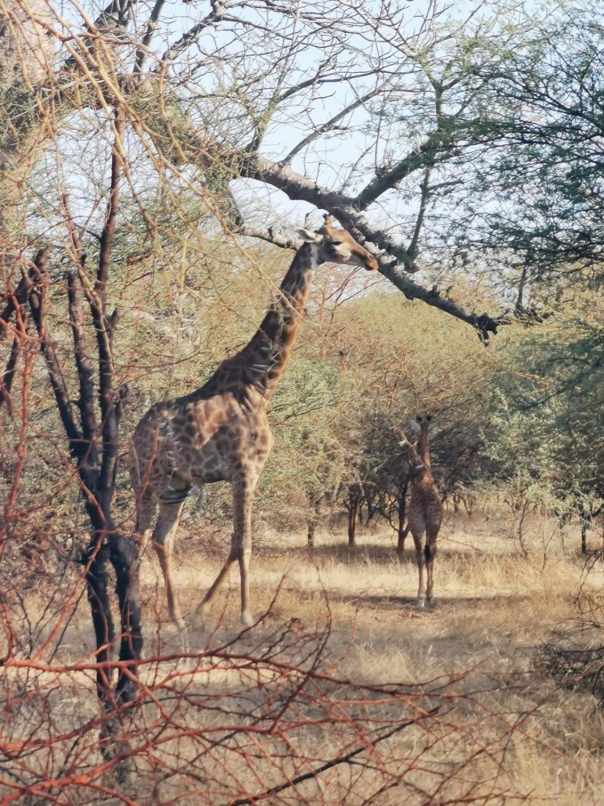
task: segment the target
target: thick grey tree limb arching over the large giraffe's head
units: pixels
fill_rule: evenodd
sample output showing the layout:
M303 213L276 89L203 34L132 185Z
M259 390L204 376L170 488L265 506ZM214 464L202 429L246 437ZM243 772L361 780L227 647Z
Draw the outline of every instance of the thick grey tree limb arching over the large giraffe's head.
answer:
M119 32L128 23L133 7L134 0L114 0L110 6L107 6L99 19L97 19L98 31L113 31L112 35L115 35L116 31ZM192 39L195 39L205 27L217 24L223 18L224 10L225 6L223 6L221 0L213 2L209 15L206 15L206 17L202 19L200 23L197 23L187 35L181 37L171 48L168 48L168 51L164 54L164 58L171 60L183 52L184 49L188 47L188 44L191 43ZM154 8L154 11L159 14L159 7ZM91 60L91 70L92 74L94 74L93 53L86 54L85 57ZM97 84L97 82L95 82L95 84ZM127 89L126 85L124 85L124 87ZM134 84L133 87L134 90L136 90L137 87L141 89L141 85ZM97 84L96 90L97 92L102 92L102 86ZM128 96L128 100L131 103L131 110L134 114L136 114L135 110L139 100L143 101L145 114L135 123L135 127L140 126L142 131L146 131L147 134L149 134L151 131L147 124L149 120L147 90L152 91L153 86L146 85L142 99L137 98L136 93L134 93L131 97ZM57 89L54 94L56 95L56 105L64 105L67 99L61 93L61 90ZM373 93L367 93L358 102L354 102L350 108L356 108L358 103L366 101L372 94ZM113 103L113 93L108 92L107 96L106 102ZM81 97L78 98L81 100ZM147 101L145 99L147 99ZM263 158L263 156L260 156L258 153L250 153L246 151L246 149L233 149L227 145L217 143L217 141L209 135L208 131L200 130L195 127L190 118L180 110L179 98L172 96L172 94L166 97L164 93L160 106L162 109L161 120L158 118L157 126L151 123L151 128L155 128L156 131L166 131L166 127L168 126L168 138L154 138L156 146L167 160L177 163L182 163L183 161L192 162L193 164L197 164L202 172L207 172L213 168L220 168L227 176L230 174L232 178L243 177L261 181L283 191L292 201L308 202L319 210L325 210L333 214L343 226L355 235L355 237L366 242L368 248L371 249L371 244L374 244L374 247L382 253L379 254L379 263L383 275L397 288L402 290L407 298L420 299L428 305L432 305L447 314L461 319L461 321L470 323L478 330L483 339L487 339L490 333L495 333L497 326L503 323L502 321L498 322L486 314L475 314L474 312L467 311L454 301L441 297L436 291L428 291L428 289L424 289L420 285L403 277L402 274L397 271L396 264L400 264L407 272L416 270L417 266L415 260L419 240L417 233L412 237L409 247L405 247L403 244L397 243L390 235L387 235L386 232L380 230L379 227L371 226L362 214L362 210L364 210L366 206L374 202L387 189L395 187L399 181L407 177L412 171L416 170L416 168L420 168L422 165L429 166L429 164L432 164L435 160L442 160L453 153L453 142L456 137L458 137L459 132L456 130L456 136L453 136L453 133L450 131L450 127L452 127L453 124L450 121L448 122L449 129L447 131L439 126L436 131L429 135L424 143L422 143L417 152L412 152L403 160L399 160L399 163L396 164L394 168L391 168L390 171L383 172L379 177L375 177L373 181L366 185L365 189L362 189L361 193L354 197L322 187L316 181L294 171L288 164L288 160L291 159L292 154L286 156L282 162L275 162ZM325 124L325 128L329 130L329 127L333 127L337 118L338 115L333 117L328 124ZM143 123L143 119L145 123ZM178 131L179 133L177 142L172 136L173 131ZM315 135L312 134L309 136L313 138ZM280 246L289 246L293 243L288 238L275 235L274 231L265 231L263 227L242 227L242 224L240 224L240 230L242 232L245 231L246 234L250 236L272 240L273 243L279 242ZM375 253L376 251L374 250L374 254ZM101 254L106 256L108 251L101 247ZM378 255L376 254L376 256ZM102 280L100 281L102 284ZM99 332L103 334L103 338L105 338L107 334L106 326L101 331L97 331L97 334ZM109 405L108 399L105 399L105 403L107 406ZM105 418L103 422L105 422ZM113 476L113 473L107 474L107 478L110 476Z

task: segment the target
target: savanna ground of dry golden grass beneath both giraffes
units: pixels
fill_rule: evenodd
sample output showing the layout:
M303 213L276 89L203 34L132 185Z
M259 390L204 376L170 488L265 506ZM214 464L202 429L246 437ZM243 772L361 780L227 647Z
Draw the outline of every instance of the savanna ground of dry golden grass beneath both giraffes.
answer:
M116 788L99 767L92 729L75 741L70 733L97 716L92 671L77 668L95 648L84 597L64 632L37 634L39 646L56 646L50 671L7 670L7 690L19 702L20 685L23 700L3 741L39 733L45 745L11 766L23 802L234 804L281 786L263 802L602 803L602 711L590 693L559 688L538 651L586 601L597 604L600 563L585 575L575 527L563 549L554 522L536 519L525 558L503 517L449 515L436 606L418 611L410 538L399 563L384 526L362 530L354 549L341 526L325 526L310 555L302 532L260 524L252 597L261 620L240 633L236 569L205 629L194 615L227 545L222 530L199 538L197 524L184 517L177 545L184 633L166 622L155 555L143 559L147 704L124 725L126 784ZM592 532L590 547L600 539ZM30 617L48 605L40 592L27 598ZM355 749L350 762L296 783ZM47 780L40 772L26 794L34 769Z

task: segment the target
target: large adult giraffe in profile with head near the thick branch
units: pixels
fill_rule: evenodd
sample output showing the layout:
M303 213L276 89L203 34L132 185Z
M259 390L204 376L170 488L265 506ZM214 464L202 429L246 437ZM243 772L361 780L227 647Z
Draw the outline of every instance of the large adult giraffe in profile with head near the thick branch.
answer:
M246 347L223 361L201 388L152 406L134 430L128 467L137 508L135 532L143 550L151 537L163 571L168 612L180 629L184 620L172 580L172 545L180 513L193 484L223 480L230 481L233 488L230 551L196 613L203 621L238 560L241 621L243 625L253 623L251 513L256 484L273 444L268 401L292 354L317 266L338 263L372 271L378 268L370 252L347 231L334 226L332 218L326 217L316 233L300 230L299 235L303 244Z

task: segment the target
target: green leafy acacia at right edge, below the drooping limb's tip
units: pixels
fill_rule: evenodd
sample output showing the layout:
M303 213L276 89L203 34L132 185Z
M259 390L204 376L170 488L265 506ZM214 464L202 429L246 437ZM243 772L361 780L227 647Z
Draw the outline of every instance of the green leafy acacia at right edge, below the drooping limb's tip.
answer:
M556 317L510 339L477 457L482 484L509 484L527 501L541 496L563 523L577 515L584 553L604 501L601 301L575 290Z

